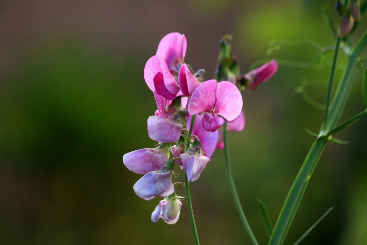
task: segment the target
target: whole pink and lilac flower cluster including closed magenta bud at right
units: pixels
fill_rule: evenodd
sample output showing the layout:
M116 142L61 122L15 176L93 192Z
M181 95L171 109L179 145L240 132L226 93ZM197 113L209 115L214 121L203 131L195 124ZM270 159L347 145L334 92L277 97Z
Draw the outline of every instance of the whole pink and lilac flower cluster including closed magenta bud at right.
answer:
M204 70L193 72L184 61L186 47L185 35L169 33L146 62L144 79L157 104L157 111L147 120L148 135L158 144L123 157L129 170L144 174L134 185L138 197L164 198L152 213L153 222L162 218L174 224L179 218L182 197L172 183L175 163L185 170L188 181L197 180L215 149L224 147L221 126L225 120L229 130L241 131L245 126L236 81L203 82ZM247 86L255 89L276 69L277 63L270 61L245 74Z

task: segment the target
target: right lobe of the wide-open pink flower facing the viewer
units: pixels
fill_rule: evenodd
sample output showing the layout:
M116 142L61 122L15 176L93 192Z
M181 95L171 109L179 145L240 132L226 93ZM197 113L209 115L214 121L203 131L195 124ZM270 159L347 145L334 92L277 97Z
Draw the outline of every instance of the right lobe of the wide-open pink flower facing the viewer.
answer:
M242 96L237 87L227 81L219 82L214 112L228 121L235 119L242 110Z

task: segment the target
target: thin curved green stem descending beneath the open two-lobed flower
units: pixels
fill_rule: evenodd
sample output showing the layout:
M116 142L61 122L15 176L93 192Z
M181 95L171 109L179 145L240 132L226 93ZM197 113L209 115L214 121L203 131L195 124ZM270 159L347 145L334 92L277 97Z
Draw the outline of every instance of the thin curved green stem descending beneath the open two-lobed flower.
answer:
M240 215L240 218L241 218L241 221L242 221L242 223L243 223L243 225L244 225L244 227L247 231L247 234L251 239L252 244L258 245L258 242L256 241L256 238L255 238L254 234L252 233L250 225L248 224L246 216L243 212L241 202L240 202L240 199L238 197L237 190L236 190L236 185L235 185L235 182L233 181L232 169L231 169L230 159L229 159L229 146L228 146L228 136L227 136L227 120L225 120L225 123L224 123L223 140L224 140L224 155L225 155L225 161L226 161L226 172L227 172L229 188L230 188L230 191L232 193L233 201L235 201L237 211L238 211L238 213Z

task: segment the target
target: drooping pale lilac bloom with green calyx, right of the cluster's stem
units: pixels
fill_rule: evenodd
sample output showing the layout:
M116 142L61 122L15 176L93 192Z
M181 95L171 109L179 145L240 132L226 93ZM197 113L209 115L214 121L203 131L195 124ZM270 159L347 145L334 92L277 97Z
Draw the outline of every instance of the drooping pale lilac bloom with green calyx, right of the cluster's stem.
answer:
M192 143L192 147L180 155L182 167L186 171L188 181L199 179L201 172L209 162L209 158L201 154L201 144L199 140Z

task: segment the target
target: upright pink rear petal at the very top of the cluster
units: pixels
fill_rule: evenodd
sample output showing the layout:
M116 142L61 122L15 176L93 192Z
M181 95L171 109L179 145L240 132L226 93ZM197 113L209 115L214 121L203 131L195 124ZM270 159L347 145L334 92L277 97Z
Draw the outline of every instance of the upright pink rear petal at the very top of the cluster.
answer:
M186 54L186 37L178 32L168 33L158 45L157 55L161 55L170 71L178 72Z

